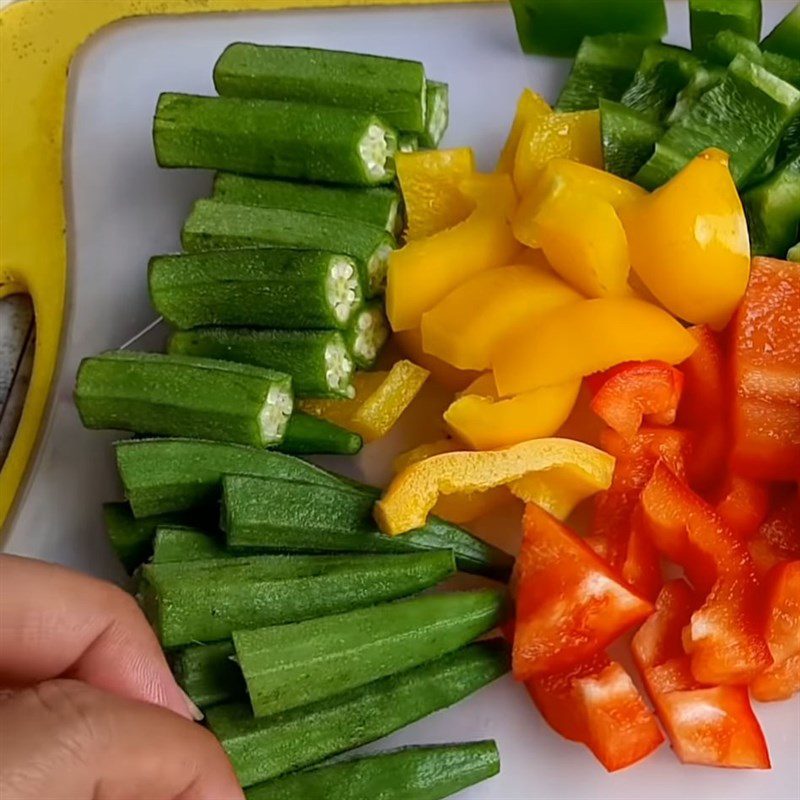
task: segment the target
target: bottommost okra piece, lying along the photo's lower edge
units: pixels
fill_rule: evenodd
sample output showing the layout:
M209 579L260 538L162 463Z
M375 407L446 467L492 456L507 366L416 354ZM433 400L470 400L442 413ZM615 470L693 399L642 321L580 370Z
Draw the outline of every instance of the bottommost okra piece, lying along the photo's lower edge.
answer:
M441 800L500 771L494 742L407 747L295 772L247 800Z

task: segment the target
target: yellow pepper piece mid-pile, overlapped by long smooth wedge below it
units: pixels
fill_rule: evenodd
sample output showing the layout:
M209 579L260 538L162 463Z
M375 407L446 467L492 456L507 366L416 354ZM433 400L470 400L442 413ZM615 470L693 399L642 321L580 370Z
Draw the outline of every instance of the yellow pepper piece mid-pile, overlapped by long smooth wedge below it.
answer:
M423 314L422 346L459 369L490 369L492 352L509 331L581 299L549 267L479 272Z

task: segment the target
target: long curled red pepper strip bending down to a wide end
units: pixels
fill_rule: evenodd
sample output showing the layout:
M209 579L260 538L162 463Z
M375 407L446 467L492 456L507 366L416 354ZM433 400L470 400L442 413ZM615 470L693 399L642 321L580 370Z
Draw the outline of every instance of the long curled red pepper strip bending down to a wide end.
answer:
M748 683L772 657L760 629L760 588L746 545L663 463L641 503L656 546L669 550L696 587L711 586L684 634L692 674L706 684Z

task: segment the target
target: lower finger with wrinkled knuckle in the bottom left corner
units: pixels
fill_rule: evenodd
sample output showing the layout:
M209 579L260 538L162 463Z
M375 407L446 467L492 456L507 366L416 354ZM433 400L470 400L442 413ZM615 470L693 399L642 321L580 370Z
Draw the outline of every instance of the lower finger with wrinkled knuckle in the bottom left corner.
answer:
M149 703L72 680L0 703L3 800L243 800L219 743Z

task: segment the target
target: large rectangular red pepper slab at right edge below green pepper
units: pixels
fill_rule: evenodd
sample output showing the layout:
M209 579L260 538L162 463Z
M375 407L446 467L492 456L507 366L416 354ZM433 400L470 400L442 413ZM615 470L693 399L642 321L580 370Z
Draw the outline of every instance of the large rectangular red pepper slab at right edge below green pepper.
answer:
M759 480L800 478L800 265L753 259L733 320L731 464Z

